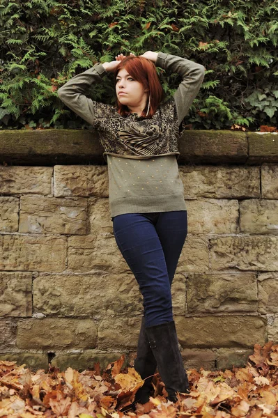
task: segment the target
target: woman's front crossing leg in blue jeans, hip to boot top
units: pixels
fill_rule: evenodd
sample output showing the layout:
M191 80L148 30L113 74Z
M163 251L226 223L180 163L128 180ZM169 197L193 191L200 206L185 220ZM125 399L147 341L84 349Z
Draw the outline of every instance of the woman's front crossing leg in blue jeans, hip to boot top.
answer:
M152 219L140 213L113 218L118 248L144 297L146 326L172 320L171 287L164 251Z

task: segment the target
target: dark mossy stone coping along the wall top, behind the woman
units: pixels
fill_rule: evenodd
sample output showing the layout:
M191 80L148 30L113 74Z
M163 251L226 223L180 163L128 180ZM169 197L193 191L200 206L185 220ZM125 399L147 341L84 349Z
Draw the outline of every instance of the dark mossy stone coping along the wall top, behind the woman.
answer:
M278 132L185 130L178 164L261 164L278 162ZM106 165L98 131L2 130L1 165Z

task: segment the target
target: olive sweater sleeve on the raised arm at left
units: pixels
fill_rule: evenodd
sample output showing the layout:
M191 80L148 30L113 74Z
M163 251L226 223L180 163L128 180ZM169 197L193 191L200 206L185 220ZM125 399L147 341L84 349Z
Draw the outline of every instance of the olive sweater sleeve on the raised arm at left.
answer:
M114 107L87 98L86 92L91 84L102 82L102 77L107 74L103 65L96 63L92 68L72 77L57 91L63 103L94 127L99 127L102 119L107 117Z

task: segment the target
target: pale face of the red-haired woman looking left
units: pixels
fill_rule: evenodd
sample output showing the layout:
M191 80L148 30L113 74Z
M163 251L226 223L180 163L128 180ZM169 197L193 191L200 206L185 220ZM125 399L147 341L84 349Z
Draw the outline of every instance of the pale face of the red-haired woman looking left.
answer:
M118 101L128 107L145 107L148 98L143 84L134 80L125 68L122 68L116 77L116 95Z

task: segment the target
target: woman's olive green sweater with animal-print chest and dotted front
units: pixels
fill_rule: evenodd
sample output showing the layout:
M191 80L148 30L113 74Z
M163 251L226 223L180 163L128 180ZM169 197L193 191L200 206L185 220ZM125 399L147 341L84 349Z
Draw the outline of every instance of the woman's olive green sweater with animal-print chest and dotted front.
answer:
M152 118L126 117L115 107L86 97L107 71L97 63L59 88L59 98L100 132L109 173L111 217L124 213L186 210L178 173L178 127L203 82L203 65L179 56L157 54L155 65L183 77L173 98Z

